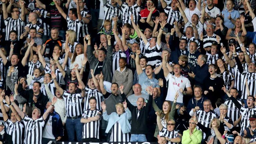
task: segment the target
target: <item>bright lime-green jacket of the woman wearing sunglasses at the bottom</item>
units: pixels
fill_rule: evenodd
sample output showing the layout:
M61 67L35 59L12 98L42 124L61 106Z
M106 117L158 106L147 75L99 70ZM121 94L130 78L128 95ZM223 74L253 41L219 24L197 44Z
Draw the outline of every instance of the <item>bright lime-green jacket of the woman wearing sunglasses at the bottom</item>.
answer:
M189 134L189 130L183 131L181 143L182 144L200 144L203 138L203 133L196 128L193 131L193 134Z

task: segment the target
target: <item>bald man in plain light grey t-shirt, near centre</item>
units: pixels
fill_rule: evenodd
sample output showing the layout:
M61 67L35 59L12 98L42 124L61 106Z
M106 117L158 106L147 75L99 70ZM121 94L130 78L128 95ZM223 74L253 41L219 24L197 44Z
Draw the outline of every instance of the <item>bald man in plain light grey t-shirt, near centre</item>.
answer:
M132 95L130 95L130 96L128 96L127 97L127 99L130 101L130 103L133 105L133 106L137 106L137 100L138 100L138 98L139 97L142 97L142 98L144 98L144 100L145 100L145 102L146 102L146 100L148 100L148 95L146 95L146 94L142 94L141 93L141 85L140 84L135 84L134 86L133 86L133 91L134 91L134 94L132 94Z

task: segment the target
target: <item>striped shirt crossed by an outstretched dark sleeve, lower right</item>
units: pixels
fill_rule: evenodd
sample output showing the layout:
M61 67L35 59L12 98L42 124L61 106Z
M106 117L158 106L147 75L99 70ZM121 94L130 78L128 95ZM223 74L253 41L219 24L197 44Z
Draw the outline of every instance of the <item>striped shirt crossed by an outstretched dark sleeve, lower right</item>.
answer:
M237 99L237 101L239 102L240 105L242 105L241 99ZM238 120L238 118L240 117L240 110L238 109L238 107L230 99L226 99L224 103L228 106L227 116L230 117L233 120L233 122ZM240 125L240 123L238 123L238 125Z

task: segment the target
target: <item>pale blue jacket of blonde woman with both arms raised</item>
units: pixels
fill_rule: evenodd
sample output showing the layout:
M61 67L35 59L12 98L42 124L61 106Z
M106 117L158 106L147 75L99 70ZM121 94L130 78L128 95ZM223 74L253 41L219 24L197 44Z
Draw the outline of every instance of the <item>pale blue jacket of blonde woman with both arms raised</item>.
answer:
M108 133L117 121L120 123L121 130L124 134L129 133L131 131L130 121L132 119L132 113L129 110L129 108L127 108L125 110L125 113L121 114L120 117L116 112L112 112L110 115L108 115L107 111L105 111L103 112L103 119L105 121L108 121L108 126L105 133Z

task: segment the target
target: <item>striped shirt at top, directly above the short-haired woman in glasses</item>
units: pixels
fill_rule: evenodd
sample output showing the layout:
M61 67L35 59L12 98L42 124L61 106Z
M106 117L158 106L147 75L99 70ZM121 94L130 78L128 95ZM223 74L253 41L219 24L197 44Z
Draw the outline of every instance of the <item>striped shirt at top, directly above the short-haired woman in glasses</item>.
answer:
M118 7L112 6L109 2L107 2L104 5L104 19L105 20L111 20L112 17L117 16L119 19L121 19L122 16L122 10ZM103 28L104 23L102 23L101 29ZM112 21L112 27L114 26L114 22Z

